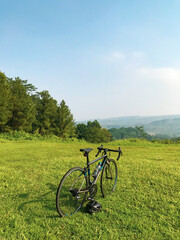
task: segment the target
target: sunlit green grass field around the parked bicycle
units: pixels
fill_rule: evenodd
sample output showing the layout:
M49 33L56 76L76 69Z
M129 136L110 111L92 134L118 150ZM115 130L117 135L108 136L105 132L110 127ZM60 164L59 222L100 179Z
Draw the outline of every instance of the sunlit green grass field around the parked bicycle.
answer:
M105 199L98 188L102 212L84 208L60 218L60 179L85 165L80 148L92 147L93 159L98 145L0 140L0 239L180 239L180 145L124 140L104 146L119 145L117 188Z

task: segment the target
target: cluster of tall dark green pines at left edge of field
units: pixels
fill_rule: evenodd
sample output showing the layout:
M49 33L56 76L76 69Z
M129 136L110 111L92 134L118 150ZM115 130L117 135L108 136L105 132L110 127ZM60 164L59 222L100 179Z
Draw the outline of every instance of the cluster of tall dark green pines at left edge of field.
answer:
M36 90L27 80L0 72L0 132L22 130L72 137L75 121L65 101L58 104L48 91Z

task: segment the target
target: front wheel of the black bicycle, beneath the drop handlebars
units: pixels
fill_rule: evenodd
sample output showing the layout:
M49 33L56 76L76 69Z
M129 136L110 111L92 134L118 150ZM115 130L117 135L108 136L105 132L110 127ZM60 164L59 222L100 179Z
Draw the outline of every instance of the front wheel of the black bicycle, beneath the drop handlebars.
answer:
M103 197L111 194L117 182L117 165L114 159L108 159L101 174L101 192Z

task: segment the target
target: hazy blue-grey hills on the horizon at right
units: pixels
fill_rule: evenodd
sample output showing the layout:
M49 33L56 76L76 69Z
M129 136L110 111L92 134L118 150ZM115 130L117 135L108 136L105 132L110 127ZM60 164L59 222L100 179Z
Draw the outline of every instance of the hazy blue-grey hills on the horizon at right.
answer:
M103 127L108 129L143 125L145 131L151 135L162 134L169 137L180 136L180 114L116 117L97 120ZM82 121L81 123L87 123L87 121Z

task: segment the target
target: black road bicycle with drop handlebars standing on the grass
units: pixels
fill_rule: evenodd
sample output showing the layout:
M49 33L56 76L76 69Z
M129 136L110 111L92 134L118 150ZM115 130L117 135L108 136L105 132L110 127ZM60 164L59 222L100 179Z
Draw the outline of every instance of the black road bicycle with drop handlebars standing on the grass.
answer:
M77 212L86 201L93 201L97 193L96 182L101 173L100 188L102 196L105 197L114 191L117 182L117 164L110 158L110 152L117 152L119 160L122 155L121 148L112 150L103 148L103 145L97 148L98 153L103 151L101 157L89 162L89 153L92 148L80 149L87 158L87 166L84 168L71 168L61 179L56 194L56 208L61 217L69 216ZM109 157L107 153L109 152ZM94 170L91 180L90 165L100 161Z

